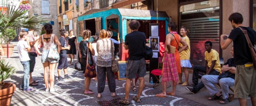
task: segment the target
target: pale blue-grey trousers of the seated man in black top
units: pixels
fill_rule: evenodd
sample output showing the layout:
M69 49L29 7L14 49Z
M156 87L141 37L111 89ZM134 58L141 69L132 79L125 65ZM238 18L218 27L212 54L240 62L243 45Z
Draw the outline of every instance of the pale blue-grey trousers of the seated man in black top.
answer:
M221 78L219 80L218 75L204 75L201 80L209 91L210 95L214 95L219 92L219 90L214 86L214 84L220 84L222 88L222 99L228 98L229 87L234 86L235 80L233 78Z

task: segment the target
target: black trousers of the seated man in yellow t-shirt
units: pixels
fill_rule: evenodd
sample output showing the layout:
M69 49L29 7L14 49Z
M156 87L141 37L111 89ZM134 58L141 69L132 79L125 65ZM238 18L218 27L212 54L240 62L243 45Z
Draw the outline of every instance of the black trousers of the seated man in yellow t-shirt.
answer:
M204 87L203 82L201 81L200 83L198 83L198 72L203 72L206 73L206 67L205 66L201 66L201 65L195 65L193 68L193 77L192 77L192 82L194 84L196 84L197 86L194 87L194 90L196 92L198 92L200 89L202 89ZM209 75L219 75L219 72L217 70L212 70Z

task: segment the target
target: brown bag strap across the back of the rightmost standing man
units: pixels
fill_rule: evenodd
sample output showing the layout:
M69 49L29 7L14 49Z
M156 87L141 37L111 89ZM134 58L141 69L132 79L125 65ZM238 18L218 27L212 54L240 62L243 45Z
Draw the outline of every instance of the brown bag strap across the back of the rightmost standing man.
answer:
M253 64L254 64L254 68L256 68L256 45L252 46L250 38L249 38L249 36L247 34L247 30L244 30L241 27L238 27L238 28L240 28L242 30L242 32L244 33L244 35L245 35L246 41L247 41L248 46L250 48L251 57L252 57Z

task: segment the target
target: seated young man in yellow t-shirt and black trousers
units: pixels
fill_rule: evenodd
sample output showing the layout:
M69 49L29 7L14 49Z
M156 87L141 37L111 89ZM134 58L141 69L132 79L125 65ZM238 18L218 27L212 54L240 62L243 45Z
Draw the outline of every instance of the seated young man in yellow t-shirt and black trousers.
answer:
M188 87L185 87L188 91L190 91L193 94L197 93L200 89L204 87L203 82L198 83L197 76L199 71L206 73L206 75L219 75L219 73L221 72L221 67L219 62L219 53L214 49L212 49L212 42L206 41L204 43L204 48L206 49L206 52L204 53L205 55L204 59L206 60L206 65L194 66L193 78L192 78L193 84L190 84Z

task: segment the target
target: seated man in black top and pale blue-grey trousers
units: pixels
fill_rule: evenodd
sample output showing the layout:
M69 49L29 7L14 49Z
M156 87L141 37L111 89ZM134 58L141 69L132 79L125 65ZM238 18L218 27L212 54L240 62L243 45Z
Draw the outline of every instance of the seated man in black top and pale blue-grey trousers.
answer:
M233 47L230 51L231 55L234 56ZM234 86L235 84L235 71L236 65L234 64L234 58L228 59L228 61L222 67L222 72L230 73L229 77L219 79L218 75L205 75L202 76L202 82L206 86L207 90L209 91L212 97L208 98L208 100L217 100L222 99L219 103L220 104L227 104L229 102L228 92L229 87ZM214 86L214 84L220 84L222 88L222 94L220 94L219 90ZM221 98L222 96L222 98Z

